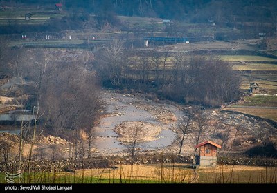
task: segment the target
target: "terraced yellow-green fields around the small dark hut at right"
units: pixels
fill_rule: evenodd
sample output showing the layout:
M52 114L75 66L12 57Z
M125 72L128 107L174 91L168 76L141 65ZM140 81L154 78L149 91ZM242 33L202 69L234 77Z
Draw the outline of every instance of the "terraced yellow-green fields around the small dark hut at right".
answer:
M224 110L242 112L277 121L277 65L267 63L277 60L269 57L250 55L222 55L219 58L234 63L233 69L239 73L240 71L249 71L242 74L240 88L244 92L249 92L250 82L256 82L259 85L261 93L260 95L244 96L243 103L229 105ZM266 94L270 94L271 96L267 96Z

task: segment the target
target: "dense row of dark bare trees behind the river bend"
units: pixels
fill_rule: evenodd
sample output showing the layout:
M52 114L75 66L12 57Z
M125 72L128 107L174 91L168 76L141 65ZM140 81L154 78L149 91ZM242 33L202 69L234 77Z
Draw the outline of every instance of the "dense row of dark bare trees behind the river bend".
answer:
M96 53L103 85L153 92L172 101L224 105L239 98L240 77L230 63L186 52L127 50L114 41Z

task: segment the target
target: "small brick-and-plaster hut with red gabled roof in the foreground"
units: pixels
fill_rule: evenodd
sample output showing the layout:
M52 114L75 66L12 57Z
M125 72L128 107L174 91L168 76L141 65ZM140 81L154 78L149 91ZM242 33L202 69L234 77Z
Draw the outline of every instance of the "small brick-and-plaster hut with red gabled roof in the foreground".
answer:
M217 148L221 148L221 145L213 141L204 141L195 145L195 148L199 148L196 165L201 167L215 167L217 165Z

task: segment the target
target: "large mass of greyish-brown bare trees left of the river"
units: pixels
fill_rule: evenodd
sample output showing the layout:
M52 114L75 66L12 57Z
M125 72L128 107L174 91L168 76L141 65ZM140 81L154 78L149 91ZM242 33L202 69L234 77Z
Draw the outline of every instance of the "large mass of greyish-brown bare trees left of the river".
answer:
M19 103L26 109L39 108L39 121L48 132L65 136L79 129L92 132L104 105L95 72L86 68L91 53L76 56L70 51L22 48L1 51L1 74L32 82L23 94L33 97Z

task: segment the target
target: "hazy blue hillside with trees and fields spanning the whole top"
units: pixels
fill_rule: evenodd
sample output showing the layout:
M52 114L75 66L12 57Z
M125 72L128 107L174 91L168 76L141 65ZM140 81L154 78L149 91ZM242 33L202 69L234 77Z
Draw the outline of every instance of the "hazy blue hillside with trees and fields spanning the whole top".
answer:
M93 28L117 28L130 32L129 23L120 17L170 19L174 30L166 32L197 36L208 26L215 39L255 39L258 33L276 37L276 1L65 1L62 10L56 10L52 1L1 1L1 34L32 32L60 32ZM109 9L105 9L109 8ZM213 11L211 11L213 10ZM26 13L32 13L24 21ZM193 31L184 24L193 24ZM31 28L26 26L31 24ZM135 23L141 30L141 21ZM162 23L161 23L162 24ZM201 25L201 28L195 26ZM213 28L211 26L215 25ZM150 25L149 32L157 25ZM161 25L160 27L165 27ZM159 27L159 28L160 28ZM216 28L216 30L215 30ZM196 31L195 31L196 30ZM133 29L134 31L134 29ZM229 31L229 32L228 32ZM188 34L187 34L188 33ZM202 33L202 32L201 32Z

